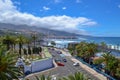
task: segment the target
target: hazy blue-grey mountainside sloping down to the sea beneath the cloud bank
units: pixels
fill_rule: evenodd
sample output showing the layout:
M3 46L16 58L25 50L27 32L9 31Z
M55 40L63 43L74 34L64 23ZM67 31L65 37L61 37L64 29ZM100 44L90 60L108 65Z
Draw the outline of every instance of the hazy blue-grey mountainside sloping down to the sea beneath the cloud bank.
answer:
M73 38L76 38L76 36L87 37L85 35L78 35L75 33L51 30L51 29L35 27L35 26L0 23L0 34L4 34L8 32L9 33L22 33L25 35L30 35L31 33L36 32L38 34L42 34L46 36L67 36L67 37L72 36Z

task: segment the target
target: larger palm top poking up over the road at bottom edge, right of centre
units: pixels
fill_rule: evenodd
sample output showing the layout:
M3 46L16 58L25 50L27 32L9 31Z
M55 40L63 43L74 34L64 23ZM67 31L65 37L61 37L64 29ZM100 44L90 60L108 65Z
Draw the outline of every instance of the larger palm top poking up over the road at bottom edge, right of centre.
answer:
M59 80L87 80L87 78L80 72L76 72L74 75L69 75L68 77L63 77Z

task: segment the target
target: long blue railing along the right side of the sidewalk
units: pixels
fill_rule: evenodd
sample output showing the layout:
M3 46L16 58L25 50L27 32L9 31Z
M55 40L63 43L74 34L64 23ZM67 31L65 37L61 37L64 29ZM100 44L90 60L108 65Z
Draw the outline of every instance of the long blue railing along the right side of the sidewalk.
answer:
M97 71L98 73L100 73L100 74L102 74L102 75L104 75L104 76L106 76L109 80L116 80L115 78L113 78L112 76L110 76L110 75L108 75L108 74L106 74L106 73L104 73L104 72L102 72L102 71L100 71L99 69L97 69L95 66L92 66L92 65L90 65L90 64L88 64L88 63L86 63L85 61L83 61L83 59L81 59L80 57L75 57L77 60L79 60L79 61L81 61L83 64L85 64L85 65L87 65L87 66L89 66L89 67L91 67L92 69L94 69L95 71Z

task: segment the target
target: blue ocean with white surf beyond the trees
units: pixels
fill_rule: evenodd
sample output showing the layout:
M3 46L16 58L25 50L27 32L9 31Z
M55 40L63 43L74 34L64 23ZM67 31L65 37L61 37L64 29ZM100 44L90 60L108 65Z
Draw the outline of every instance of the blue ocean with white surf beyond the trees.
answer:
M86 41L86 42L95 42L100 44L101 42L105 42L107 45L111 45L112 48L114 46L118 46L120 48L120 37L78 37L78 39L51 39L51 41L56 42L57 47L67 47L68 43L71 42L81 42L81 41Z

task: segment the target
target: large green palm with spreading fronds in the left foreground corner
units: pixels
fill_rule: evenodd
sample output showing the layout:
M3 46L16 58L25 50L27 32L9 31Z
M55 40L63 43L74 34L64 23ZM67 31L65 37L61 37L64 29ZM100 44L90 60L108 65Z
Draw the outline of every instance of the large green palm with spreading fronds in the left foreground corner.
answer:
M3 45L0 45L0 79L12 80L18 79L22 73L15 67L15 55L11 51L6 51Z

